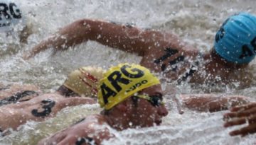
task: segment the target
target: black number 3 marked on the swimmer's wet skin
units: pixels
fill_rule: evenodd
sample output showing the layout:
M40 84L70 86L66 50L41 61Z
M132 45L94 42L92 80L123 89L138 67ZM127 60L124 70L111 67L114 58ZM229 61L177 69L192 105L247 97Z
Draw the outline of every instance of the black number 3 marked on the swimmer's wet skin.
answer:
M46 100L42 100L41 103L43 105L43 107L42 107L43 111L42 112L38 112L38 110L33 109L31 111L32 115L34 115L36 117L46 117L46 116L50 115L51 109L55 105L54 100L46 99Z

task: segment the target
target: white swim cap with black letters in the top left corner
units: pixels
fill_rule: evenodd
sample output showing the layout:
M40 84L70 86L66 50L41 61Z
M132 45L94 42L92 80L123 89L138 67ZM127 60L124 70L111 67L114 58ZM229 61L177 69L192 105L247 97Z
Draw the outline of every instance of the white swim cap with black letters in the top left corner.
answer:
M0 0L0 33L12 30L18 23L23 23L18 4L11 0Z

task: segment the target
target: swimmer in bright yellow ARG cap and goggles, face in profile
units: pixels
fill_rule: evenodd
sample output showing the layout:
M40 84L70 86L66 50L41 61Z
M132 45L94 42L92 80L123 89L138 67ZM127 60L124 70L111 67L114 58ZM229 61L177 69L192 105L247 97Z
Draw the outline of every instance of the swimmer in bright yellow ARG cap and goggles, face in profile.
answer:
M152 127L160 125L162 117L168 115L160 81L144 66L113 66L103 74L98 88L98 103L103 108L100 114L87 116L76 124L42 139L38 145L101 144L102 141L114 137L110 128L121 131L128 128ZM203 103L207 103L207 99L201 102L204 99L193 100L191 97L187 104L191 108L201 108ZM216 100L213 102L215 104L212 105L218 104ZM214 108L221 110L218 107L220 105ZM205 105L203 108L208 107Z

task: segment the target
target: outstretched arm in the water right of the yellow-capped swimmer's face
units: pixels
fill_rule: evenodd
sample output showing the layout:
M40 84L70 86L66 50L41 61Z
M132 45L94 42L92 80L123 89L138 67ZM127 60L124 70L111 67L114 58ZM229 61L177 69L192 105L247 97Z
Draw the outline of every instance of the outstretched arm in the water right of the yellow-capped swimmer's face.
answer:
M234 106L249 103L249 100L241 95L195 94L181 95L181 98L186 108L202 112L228 110Z

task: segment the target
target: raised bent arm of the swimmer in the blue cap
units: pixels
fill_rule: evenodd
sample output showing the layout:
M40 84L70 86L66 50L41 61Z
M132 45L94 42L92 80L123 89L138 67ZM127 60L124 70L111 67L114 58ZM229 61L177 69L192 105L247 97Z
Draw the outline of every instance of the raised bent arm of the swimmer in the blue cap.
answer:
M147 50L153 48L183 47L181 40L170 33L141 30L131 25L82 19L65 26L52 37L33 47L26 59L46 50L48 47L63 50L87 40L97 41L102 45L138 54L146 53Z

